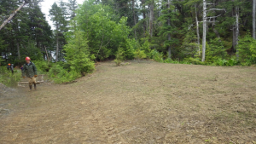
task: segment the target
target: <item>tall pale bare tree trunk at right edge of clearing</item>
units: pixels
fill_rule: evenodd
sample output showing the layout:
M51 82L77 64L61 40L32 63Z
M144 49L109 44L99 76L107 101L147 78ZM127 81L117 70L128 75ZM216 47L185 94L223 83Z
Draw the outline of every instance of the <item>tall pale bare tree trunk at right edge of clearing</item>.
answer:
M203 37L202 37L202 57L201 61L206 59L206 43L207 43L207 0L203 0Z

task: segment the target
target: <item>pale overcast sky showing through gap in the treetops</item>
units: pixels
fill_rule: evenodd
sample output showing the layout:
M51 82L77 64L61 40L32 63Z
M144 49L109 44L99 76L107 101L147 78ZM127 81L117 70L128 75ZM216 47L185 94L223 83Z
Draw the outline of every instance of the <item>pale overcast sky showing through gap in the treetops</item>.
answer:
M53 23L51 20L49 20L49 9L51 8L53 3L58 3L58 0L44 0L44 2L41 2L41 10L45 14L46 20L48 20L49 25L51 26L51 29L55 29L55 26L53 26ZM63 2L68 2L68 0L63 0ZM84 0L77 0L77 3L82 4Z

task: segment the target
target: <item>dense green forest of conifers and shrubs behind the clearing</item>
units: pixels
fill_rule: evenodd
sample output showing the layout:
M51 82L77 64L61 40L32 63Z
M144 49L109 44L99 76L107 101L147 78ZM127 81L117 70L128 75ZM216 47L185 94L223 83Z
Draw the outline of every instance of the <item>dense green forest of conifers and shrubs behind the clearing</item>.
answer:
M61 0L49 9L50 27L41 0L1 0L1 23L24 4L0 30L2 65L20 66L29 56L52 77L84 75L99 60L250 66L255 1Z

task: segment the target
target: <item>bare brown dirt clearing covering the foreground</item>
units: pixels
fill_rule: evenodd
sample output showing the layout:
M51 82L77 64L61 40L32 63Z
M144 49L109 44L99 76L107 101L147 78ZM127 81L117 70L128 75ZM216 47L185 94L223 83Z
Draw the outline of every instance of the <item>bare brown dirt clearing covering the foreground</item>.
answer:
M96 69L73 84L2 93L0 143L256 143L254 67Z

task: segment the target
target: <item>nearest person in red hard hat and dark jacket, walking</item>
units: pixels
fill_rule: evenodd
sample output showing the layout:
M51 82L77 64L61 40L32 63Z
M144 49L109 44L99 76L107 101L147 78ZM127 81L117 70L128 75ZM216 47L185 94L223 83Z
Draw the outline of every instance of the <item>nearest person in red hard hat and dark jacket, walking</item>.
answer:
M34 84L34 88L37 89L37 85L36 85L36 78L38 77L37 67L35 66L34 63L32 63L29 57L26 57L26 64L24 64L23 70L22 70L23 78L25 78L25 75L27 78L29 78L28 80L29 89L30 89L29 91L32 90L32 84Z

